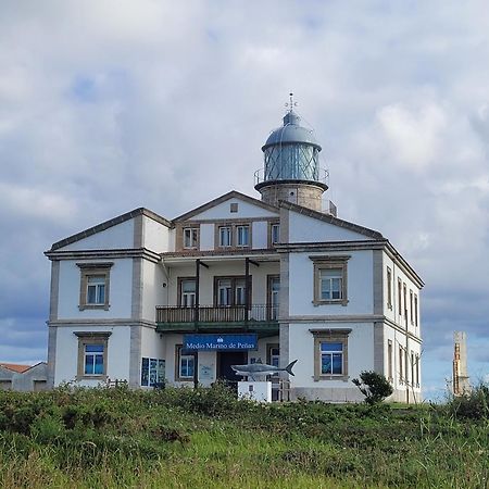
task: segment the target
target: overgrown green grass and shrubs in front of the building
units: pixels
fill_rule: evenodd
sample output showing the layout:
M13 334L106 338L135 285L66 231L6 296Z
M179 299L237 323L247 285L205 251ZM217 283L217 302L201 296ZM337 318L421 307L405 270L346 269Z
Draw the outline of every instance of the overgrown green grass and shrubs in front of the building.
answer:
M220 386L0 392L0 484L484 488L489 421L467 405L261 405Z

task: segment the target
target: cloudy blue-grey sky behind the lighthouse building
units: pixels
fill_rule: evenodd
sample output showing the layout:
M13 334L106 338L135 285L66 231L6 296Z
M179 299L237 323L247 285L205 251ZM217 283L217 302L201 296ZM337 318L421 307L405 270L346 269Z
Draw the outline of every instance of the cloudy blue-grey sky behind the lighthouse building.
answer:
M45 360L51 243L138 206L258 197L293 91L339 216L424 278L425 393L452 334L489 373L489 3L0 3L0 360Z

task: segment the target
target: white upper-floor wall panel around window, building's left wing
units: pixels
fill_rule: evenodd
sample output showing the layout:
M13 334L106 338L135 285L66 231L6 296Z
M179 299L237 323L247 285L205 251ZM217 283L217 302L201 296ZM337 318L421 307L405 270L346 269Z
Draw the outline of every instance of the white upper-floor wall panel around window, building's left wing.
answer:
M80 268L76 263L113 262L110 271L109 311L79 311ZM133 259L62 260L60 262L60 293L58 316L67 318L128 318L131 314Z

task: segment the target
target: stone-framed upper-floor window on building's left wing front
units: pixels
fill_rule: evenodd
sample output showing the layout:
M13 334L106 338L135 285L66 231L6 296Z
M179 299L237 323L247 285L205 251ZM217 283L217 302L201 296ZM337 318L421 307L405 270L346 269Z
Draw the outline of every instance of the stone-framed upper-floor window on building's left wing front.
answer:
M79 304L85 309L109 310L110 271L113 263L77 263L80 268Z

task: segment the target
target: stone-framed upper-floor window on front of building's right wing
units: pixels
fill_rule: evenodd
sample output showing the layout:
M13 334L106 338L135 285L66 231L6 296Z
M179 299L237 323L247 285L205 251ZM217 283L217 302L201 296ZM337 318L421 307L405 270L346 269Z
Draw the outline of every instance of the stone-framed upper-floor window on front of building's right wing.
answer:
M315 305L348 304L347 261L350 256L310 256L314 262Z

